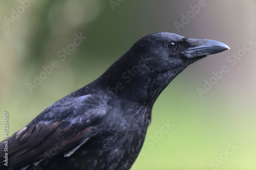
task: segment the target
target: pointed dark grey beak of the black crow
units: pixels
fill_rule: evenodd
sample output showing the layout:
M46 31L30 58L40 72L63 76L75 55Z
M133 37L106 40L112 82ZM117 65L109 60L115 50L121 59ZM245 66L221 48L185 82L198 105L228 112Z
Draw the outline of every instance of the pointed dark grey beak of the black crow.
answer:
M186 51L182 52L182 54L187 58L194 58L220 53L225 50L230 50L226 44L215 40L206 40L203 45L190 47Z

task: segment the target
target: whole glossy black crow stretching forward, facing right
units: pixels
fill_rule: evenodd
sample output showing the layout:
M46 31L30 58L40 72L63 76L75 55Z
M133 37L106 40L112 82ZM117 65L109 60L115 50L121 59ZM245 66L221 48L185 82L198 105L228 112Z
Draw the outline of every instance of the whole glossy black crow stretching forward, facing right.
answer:
M0 144L0 169L129 169L151 110L189 64L228 50L221 42L155 33L138 40L94 82L42 111Z

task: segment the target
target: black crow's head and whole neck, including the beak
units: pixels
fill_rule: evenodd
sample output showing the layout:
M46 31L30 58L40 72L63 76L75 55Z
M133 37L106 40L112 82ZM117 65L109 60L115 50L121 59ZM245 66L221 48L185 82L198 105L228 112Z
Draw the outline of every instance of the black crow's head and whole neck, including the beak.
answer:
M215 40L154 33L138 40L98 80L120 98L153 105L162 90L189 64L228 49Z

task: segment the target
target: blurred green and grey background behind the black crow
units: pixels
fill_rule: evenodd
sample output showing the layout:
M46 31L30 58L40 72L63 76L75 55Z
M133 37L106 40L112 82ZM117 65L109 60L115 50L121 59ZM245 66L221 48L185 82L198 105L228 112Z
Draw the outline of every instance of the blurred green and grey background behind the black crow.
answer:
M132 169L256 169L256 44L233 66L228 62L232 53L242 53L245 39L256 42L256 1L205 0L200 11L191 12L190 6L200 3L1 0L0 132L4 111L12 135L55 101L98 78L141 37L172 32L218 40L231 50L190 65L162 92L143 154ZM177 29L174 23L182 23L182 14L190 19ZM61 61L57 53L73 43L75 34L87 39ZM27 83L53 60L58 67L31 93ZM229 71L201 98L197 88L223 65ZM163 133L163 122L174 127ZM230 150L228 143L239 148Z

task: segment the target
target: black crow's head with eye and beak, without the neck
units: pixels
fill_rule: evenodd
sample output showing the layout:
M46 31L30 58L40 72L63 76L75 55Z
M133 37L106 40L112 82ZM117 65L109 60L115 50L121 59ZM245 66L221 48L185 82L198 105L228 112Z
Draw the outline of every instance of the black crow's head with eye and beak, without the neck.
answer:
M154 33L138 40L131 51L145 60L152 71L183 70L189 64L210 54L228 50L219 41L186 38L173 33Z

